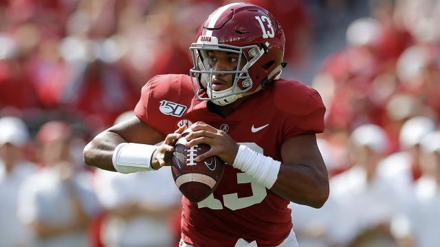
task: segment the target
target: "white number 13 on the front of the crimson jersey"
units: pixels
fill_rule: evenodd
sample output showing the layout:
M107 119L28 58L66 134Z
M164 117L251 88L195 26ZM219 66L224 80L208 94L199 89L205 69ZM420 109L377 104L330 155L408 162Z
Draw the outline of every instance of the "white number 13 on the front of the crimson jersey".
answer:
M259 152L263 154L263 149L256 145L256 143L239 143L241 145L245 145L246 147ZM264 185L261 185L260 183L257 183L254 178L251 178L250 176L239 173L236 174L236 180L238 184L243 183L250 183L252 188L252 196L239 198L238 193L229 193L223 195L223 203L224 207L227 207L231 210L237 210L237 209L244 209L246 207L250 207L254 204L263 202L264 198L267 195L266 187ZM215 199L212 193L208 198L205 200L199 202L197 206L200 208L208 207L209 209L223 209L223 204L221 204L221 201L218 199Z

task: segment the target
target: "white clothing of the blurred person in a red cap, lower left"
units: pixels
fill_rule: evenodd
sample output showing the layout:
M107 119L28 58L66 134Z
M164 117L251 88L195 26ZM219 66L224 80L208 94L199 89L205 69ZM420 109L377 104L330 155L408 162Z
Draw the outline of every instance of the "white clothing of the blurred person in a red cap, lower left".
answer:
M91 174L79 172L71 178L74 191L83 209L90 217L100 210L98 199L92 189ZM74 220L74 209L69 198L69 189L51 167L45 167L30 176L19 191L19 216L25 224L43 222L53 226L65 225ZM32 246L77 247L87 246L87 232L76 231L34 239Z

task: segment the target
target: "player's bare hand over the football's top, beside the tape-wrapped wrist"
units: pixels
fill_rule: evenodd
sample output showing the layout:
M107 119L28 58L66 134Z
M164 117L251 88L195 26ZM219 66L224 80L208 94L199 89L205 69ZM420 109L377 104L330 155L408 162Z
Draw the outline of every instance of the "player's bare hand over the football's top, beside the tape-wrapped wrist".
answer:
M206 143L211 147L208 152L195 158L197 162L217 155L221 160L225 161L225 163L234 163L236 153L239 151L239 146L229 134L202 122L193 124L190 128L192 132L186 136L186 141L188 141L186 145L188 147L200 143Z

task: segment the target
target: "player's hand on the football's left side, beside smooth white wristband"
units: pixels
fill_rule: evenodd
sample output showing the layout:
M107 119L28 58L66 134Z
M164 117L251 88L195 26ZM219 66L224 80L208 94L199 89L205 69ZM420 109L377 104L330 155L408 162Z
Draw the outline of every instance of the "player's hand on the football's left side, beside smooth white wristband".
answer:
M181 137L181 133L186 130L186 125L178 128L174 133L168 134L164 143L155 150L153 154L153 160L151 161L151 167L153 169L159 169L164 165L171 165L171 154L174 151L176 141Z

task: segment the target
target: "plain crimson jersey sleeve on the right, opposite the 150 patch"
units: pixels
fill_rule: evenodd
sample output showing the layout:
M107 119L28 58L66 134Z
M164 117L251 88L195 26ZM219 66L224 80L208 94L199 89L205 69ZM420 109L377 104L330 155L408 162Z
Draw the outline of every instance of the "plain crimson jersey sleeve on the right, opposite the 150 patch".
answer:
M278 109L285 116L284 140L300 134L324 132L325 106L318 91L296 82L281 94L284 94L283 104L278 104Z

